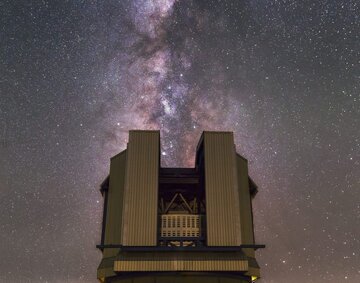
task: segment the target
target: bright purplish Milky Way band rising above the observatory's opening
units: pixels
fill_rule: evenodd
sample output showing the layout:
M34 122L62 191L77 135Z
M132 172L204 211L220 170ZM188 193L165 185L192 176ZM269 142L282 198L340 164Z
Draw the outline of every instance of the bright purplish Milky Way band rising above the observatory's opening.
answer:
M232 29L238 28L227 15L230 6L216 15L209 11L212 4L196 2L134 1L125 6L128 14L120 21L127 38L118 39L123 41L106 77L109 89L122 97L118 104L109 103L123 109L109 114L121 127L109 129L115 134L110 142L118 147L131 128L160 129L163 165L193 166L201 131L242 129L240 124L249 122L238 99L244 90L230 78L231 71L244 68L244 52L234 56L221 39L231 39ZM218 38L209 45L202 37L211 32ZM246 38L232 41L239 49Z

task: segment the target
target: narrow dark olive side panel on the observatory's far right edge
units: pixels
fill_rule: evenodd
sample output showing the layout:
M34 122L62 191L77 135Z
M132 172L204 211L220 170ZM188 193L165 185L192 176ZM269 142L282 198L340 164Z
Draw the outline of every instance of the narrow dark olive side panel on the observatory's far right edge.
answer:
M254 244L248 165L247 160L240 155L237 155L237 170L242 244ZM244 249L244 252L250 257L255 256L254 249Z

